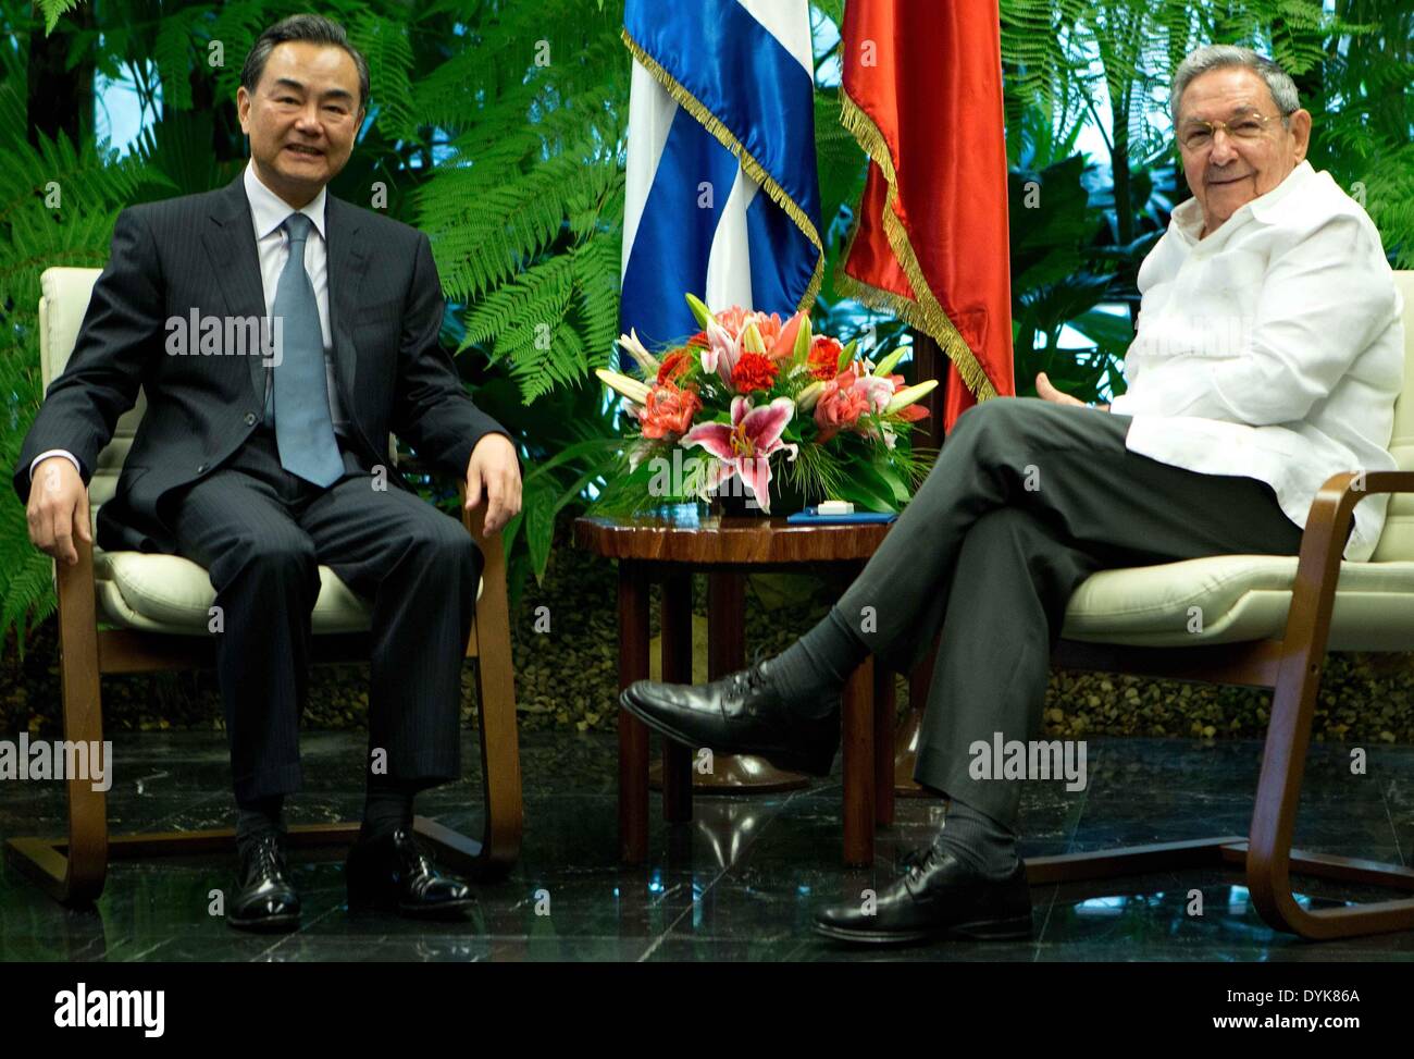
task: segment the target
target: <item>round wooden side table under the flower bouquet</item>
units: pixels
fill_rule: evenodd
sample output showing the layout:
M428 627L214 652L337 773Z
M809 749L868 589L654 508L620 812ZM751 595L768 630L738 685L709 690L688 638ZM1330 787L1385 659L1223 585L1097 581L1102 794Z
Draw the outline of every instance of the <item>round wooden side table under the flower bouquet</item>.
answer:
M689 684L693 573L720 578L812 566L858 572L888 530L889 524L790 525L776 517L704 515L684 505L641 518L578 518L574 539L597 555L618 559L622 689L648 678L652 580L663 588L663 680ZM894 674L878 667L875 675L871 656L847 681L843 699L844 862L867 865L874 861L874 828L894 820ZM639 864L648 857L648 728L621 709L618 733L619 857ZM663 818L683 823L691 815L691 749L665 739Z

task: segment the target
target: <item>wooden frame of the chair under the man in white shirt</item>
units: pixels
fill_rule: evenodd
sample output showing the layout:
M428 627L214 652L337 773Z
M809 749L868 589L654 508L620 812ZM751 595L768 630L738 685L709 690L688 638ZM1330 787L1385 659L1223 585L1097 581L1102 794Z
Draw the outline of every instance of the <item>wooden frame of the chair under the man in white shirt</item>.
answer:
M1274 691L1267 745L1257 780L1251 830L1186 842L1102 849L1027 859L1032 885L1109 879L1152 871L1233 865L1246 868L1247 889L1270 926L1305 939L1353 937L1414 927L1414 898L1331 909L1297 902L1291 872L1326 879L1414 891L1414 869L1393 864L1331 857L1291 845L1301 798L1311 721L1331 633L1340 558L1355 505L1374 493L1414 493L1414 471L1343 473L1329 479L1311 505L1297 580L1281 640L1206 647L1124 647L1060 640L1052 658L1082 670L1134 672L1210 684L1244 684ZM889 674L889 691L892 674ZM877 726L891 731L891 694L875 698ZM885 718L887 723L880 725ZM894 742L875 739L875 804L880 823L894 817Z

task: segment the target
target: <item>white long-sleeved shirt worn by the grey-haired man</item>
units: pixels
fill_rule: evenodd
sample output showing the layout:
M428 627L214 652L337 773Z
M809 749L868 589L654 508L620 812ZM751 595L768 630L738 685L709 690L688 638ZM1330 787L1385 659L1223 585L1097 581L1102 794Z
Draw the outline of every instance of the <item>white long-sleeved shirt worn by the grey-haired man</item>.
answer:
M1206 239L1196 200L1140 268L1124 358L1126 447L1202 474L1268 483L1292 522L1332 474L1394 470L1403 304L1380 234L1302 161ZM1386 494L1362 500L1346 559L1369 559Z

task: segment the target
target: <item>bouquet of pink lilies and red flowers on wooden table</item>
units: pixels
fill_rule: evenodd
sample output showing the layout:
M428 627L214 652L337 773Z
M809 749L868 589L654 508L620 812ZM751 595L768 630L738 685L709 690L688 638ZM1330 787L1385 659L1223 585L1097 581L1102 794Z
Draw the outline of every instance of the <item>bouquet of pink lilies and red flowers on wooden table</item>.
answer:
M701 330L684 344L655 355L631 331L619 344L641 377L595 372L628 398L638 428L626 474L607 483L595 511L732 494L764 513L773 496L790 510L827 498L870 511L908 503L928 467L898 442L928 415L916 402L937 381L905 387L891 374L904 350L875 364L854 341L812 334L806 313L782 321L741 306L713 313L691 294L687 303Z

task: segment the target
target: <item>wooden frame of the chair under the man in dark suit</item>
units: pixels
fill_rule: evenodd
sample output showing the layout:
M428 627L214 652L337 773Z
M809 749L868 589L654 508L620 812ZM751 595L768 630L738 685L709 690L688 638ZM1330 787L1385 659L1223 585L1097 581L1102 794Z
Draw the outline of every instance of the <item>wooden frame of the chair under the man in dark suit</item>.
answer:
M400 466L423 470L413 462L400 462ZM460 496L465 500L465 483L460 483ZM515 864L522 834L506 561L501 534L486 537L482 532L485 508L468 513L462 507L461 514L485 559L481 599L467 641L467 657L477 658L485 821L479 841L426 817L417 817L414 828L445 866L491 879L505 875ZM206 668L215 664L215 644L198 636L99 630L93 546L79 539L74 545L78 563L55 563L64 738L102 742L102 674ZM311 643L314 664L359 661L369 656L368 633L320 634ZM64 838L11 838L6 842L6 859L65 905L88 905L103 892L110 858L192 855L232 848L233 828L110 835L106 793L72 777L65 786L68 834ZM291 848L349 845L358 830L359 824L349 821L296 825L287 842Z

